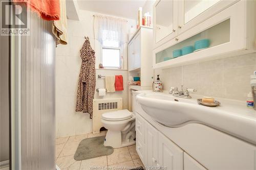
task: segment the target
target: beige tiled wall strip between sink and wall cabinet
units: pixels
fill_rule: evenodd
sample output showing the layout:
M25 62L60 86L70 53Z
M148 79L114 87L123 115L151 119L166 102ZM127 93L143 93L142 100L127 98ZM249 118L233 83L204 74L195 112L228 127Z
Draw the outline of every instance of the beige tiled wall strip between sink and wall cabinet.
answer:
M234 100L247 98L250 75L256 70L256 53L200 62L168 69L157 69L164 83L164 90L171 86L195 88L204 96L215 96Z

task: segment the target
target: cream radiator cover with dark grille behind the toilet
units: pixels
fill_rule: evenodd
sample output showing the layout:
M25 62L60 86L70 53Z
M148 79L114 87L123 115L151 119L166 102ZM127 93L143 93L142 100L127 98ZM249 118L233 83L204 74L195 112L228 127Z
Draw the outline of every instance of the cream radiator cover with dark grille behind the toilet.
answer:
M93 134L100 132L102 128L101 114L123 109L122 98L117 99L94 99L93 100Z

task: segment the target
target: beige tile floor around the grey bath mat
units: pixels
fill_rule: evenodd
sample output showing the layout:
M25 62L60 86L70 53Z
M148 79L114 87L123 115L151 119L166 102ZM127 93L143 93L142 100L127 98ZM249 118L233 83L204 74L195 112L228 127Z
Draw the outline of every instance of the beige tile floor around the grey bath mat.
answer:
M96 169L96 170L111 170L111 169L126 169L130 167L143 166L135 145L129 147L114 149L114 153L109 156L102 156L93 159L82 161L74 160L74 154L81 140L104 136L106 131L101 131L99 134L83 134L76 136L61 137L56 139L56 164L61 170L79 170L79 169ZM92 168L92 167L97 168Z

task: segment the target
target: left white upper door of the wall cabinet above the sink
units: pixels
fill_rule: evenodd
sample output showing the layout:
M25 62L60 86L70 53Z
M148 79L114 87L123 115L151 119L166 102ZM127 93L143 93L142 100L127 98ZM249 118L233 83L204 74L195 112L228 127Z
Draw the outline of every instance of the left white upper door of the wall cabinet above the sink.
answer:
M153 6L155 47L178 35L178 1L158 0Z

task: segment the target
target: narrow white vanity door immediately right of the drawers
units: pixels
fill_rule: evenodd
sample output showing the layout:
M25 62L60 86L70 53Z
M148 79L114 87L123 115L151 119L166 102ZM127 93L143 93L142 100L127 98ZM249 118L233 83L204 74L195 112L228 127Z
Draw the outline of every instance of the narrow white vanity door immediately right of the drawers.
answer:
M146 124L146 166L157 166L158 162L158 130Z

